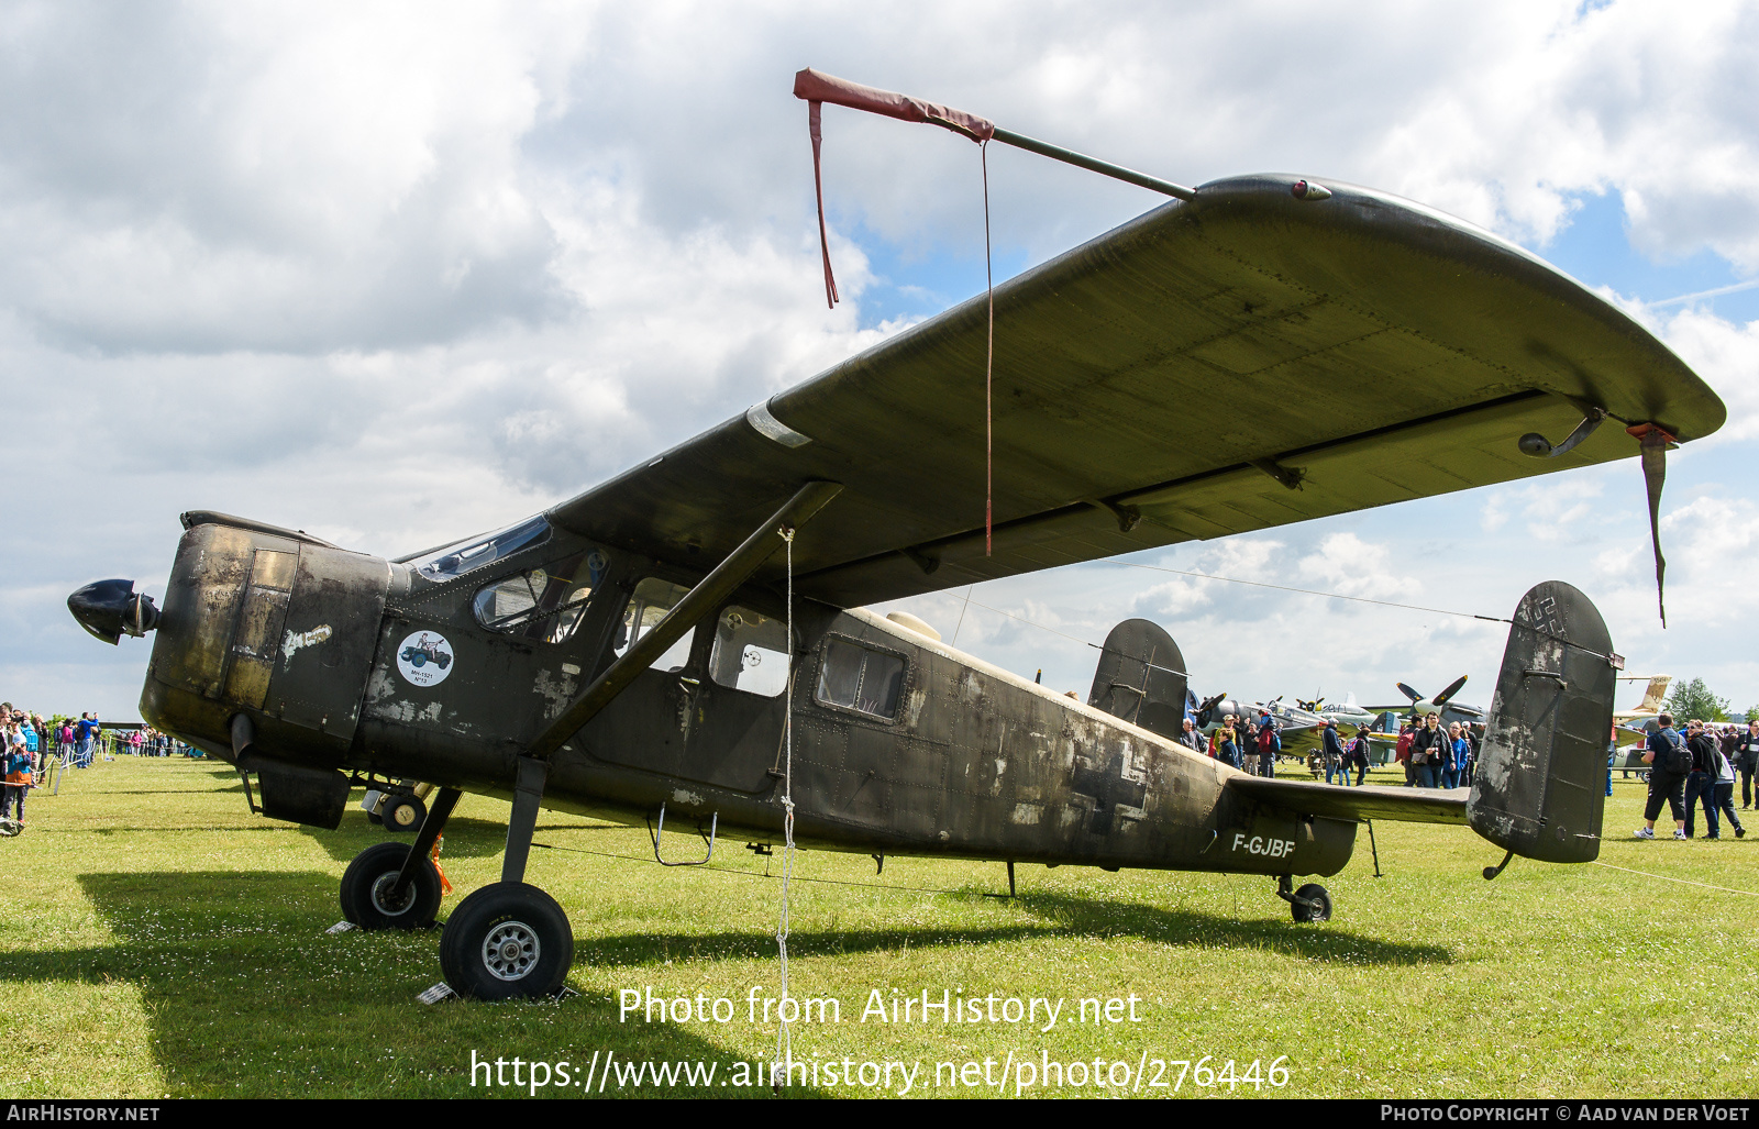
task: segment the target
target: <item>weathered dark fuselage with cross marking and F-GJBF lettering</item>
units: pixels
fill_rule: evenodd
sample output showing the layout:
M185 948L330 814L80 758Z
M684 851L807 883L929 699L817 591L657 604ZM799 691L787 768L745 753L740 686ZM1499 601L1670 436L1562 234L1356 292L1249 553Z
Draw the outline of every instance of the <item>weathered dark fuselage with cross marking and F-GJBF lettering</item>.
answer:
M512 797L519 753L700 579L559 528L449 566L197 524L142 716L227 760L248 717L271 814L329 821L334 802L303 797L345 774ZM670 832L779 841L783 603L746 587L704 617L554 753L544 805L635 825L665 805ZM1240 798L1233 768L872 612L795 600L793 640L804 844L1277 876L1349 860L1356 823Z

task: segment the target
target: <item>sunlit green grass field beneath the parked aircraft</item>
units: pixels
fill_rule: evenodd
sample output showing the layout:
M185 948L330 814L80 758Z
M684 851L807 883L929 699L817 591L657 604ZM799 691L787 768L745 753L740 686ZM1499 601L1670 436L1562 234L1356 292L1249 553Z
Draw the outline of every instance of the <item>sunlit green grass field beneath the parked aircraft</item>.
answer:
M865 856L802 855L797 872L825 881L795 886L792 990L839 999L841 1023L797 1023L795 1057L920 1062L913 1092L927 1096L994 1094L1010 1055L1129 1071L1214 1055L1235 1073L1258 1060L1259 1076L1284 1057L1288 1085L1261 1092L1303 1097L1752 1096L1759 834L1638 842L1641 786L1620 781L1608 805L1602 862L1652 876L1514 860L1486 883L1479 869L1500 853L1465 828L1379 823L1386 876L1374 878L1363 834L1325 879L1337 906L1325 925L1291 923L1258 878L1020 867L1010 900L990 897L1006 892L999 863L899 858L876 878ZM442 858L461 893L498 878L503 819L505 804L461 804ZM544 812L536 839L551 849L533 851L528 879L573 920L579 995L422 1006L440 978L436 932L324 932L343 867L382 837L359 809L339 832L252 816L225 765L183 758L120 758L67 774L58 797L35 793L28 830L0 841L12 1050L0 1094L484 1096L471 1052L577 1069L595 1052L718 1060L725 1080L774 1048L774 1023L746 1022L746 999L753 985L777 990L781 890L741 844L719 844L711 869L663 870L640 828ZM619 990L644 987L726 997L737 1016L619 1023ZM1043 1015L864 1023L872 988L1068 1002L1045 1032ZM1140 1022L1071 1020L1078 999L1129 994ZM994 1066L974 1089L932 1085L936 1064L983 1059ZM1170 1094L1152 1082L1179 1067L1152 1071L1140 1092ZM1180 1096L1230 1092L1193 1078ZM661 1092L769 1094L623 1089ZM795 1092L885 1090L821 1074ZM1089 1078L1027 1092L1101 1090Z

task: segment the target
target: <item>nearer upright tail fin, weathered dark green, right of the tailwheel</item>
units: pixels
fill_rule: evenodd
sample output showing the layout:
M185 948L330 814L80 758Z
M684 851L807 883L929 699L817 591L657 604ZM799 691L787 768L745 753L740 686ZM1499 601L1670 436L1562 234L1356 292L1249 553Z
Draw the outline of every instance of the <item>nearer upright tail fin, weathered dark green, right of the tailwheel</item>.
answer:
M1465 809L1472 830L1541 862L1601 853L1615 663L1580 591L1546 580L1522 596Z

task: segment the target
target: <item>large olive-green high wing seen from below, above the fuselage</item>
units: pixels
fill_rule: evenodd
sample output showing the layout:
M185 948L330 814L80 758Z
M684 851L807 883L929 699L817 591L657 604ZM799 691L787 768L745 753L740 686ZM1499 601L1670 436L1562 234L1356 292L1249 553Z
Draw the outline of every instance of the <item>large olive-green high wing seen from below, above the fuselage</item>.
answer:
M853 607L1638 452L1615 422L1516 448L1588 408L1682 441L1722 426L1660 341L1514 244L1293 183L1205 185L996 288L994 556L982 295L549 517L702 568L800 484L841 482L795 589Z

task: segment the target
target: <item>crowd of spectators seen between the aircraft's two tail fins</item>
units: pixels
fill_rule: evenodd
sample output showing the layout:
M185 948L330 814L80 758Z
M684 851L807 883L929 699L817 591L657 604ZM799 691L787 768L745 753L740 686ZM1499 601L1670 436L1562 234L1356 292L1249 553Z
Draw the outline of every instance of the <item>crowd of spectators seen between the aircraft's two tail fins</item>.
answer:
M1404 767L1407 788L1467 788L1478 765L1483 733L1485 726L1463 721L1442 726L1437 712L1421 721L1409 717L1398 730L1393 763ZM1180 742L1256 776L1275 776L1277 758L1282 754L1282 733L1270 710L1259 710L1256 717L1228 714L1207 735L1194 719L1186 717ZM1337 721L1328 719L1319 732L1319 760L1325 765L1326 784L1360 788L1374 763L1369 730L1358 730L1354 737L1344 740ZM1354 781L1351 772L1356 774Z

